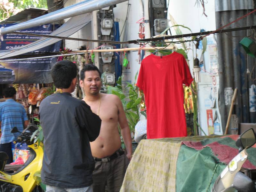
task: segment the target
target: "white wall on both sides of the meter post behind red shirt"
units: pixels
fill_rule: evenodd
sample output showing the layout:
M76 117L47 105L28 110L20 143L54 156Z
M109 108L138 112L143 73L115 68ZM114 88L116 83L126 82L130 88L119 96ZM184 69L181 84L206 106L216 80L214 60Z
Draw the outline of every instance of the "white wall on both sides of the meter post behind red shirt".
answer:
M140 14L140 7L138 0L130 0L129 3L131 4L129 19L128 19L128 28L126 31L126 36L124 39L121 40L133 40L138 39L138 31L139 31L139 24L136 23L141 18ZM184 25L191 29L193 33L200 32L200 29L204 29L205 31L212 31L216 29L215 24L215 7L214 1L208 1L205 4L205 14L207 17L203 15L203 7L195 5L196 1L192 0L170 0L168 6L168 15L167 19L170 19L169 14L172 15L174 20L179 25ZM120 19L120 31L122 30L123 23L126 16L127 10L127 2L118 4L117 7L114 9L115 17ZM169 22L169 25L172 26L172 23ZM180 27L183 34L191 33L188 29ZM175 35L175 31L171 28L172 35ZM209 39L214 38L214 35L209 36ZM188 40L185 38L185 40ZM196 49L193 43L187 43L187 46L190 44L190 51L188 52L188 63L190 66L191 74L193 69L193 59L196 57ZM129 44L126 45L127 47L136 47L138 45ZM181 44L176 44L176 47L180 47ZM197 57L200 58L202 50L197 50ZM128 53L128 60L130 62L130 69L124 69L124 74L127 75L126 80L131 80L134 82L134 76L136 72L139 70L139 62L138 62L138 52L130 52ZM206 50L204 53L204 61L205 61L205 70L210 70L210 60L209 60L209 52ZM207 125L207 114L206 109L212 109L213 116L216 113L220 116L217 102L215 103L215 108L207 108L205 107L205 87L212 86L212 76L209 75L207 72L201 72L202 82L199 84L198 89L198 107L199 107L199 123L203 128L204 132L208 134L208 125ZM216 76L217 79L217 88L219 78ZM222 130L220 128L220 130ZM222 134L221 132L214 132L215 134ZM202 133L203 134L203 133Z

